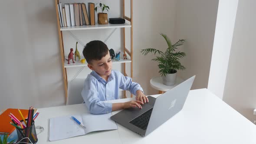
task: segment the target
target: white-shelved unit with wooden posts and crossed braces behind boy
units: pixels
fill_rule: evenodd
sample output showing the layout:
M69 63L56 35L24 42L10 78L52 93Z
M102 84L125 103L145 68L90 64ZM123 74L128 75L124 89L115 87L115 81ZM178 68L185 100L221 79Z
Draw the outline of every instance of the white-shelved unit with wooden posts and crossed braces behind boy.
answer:
M62 70L63 70L63 80L64 80L64 89L65 89L65 94L66 94L66 98L67 98L67 94L68 94L68 79L67 79L67 69L70 68L74 68L74 67L85 67L87 66L87 63L82 63L79 61L75 61L75 63L72 63L72 60L69 61L70 64L68 64L68 61L65 60L65 54L64 54L64 44L63 44L63 35L62 32L63 31L73 31L73 30L86 30L86 29L112 29L114 28L114 31L112 33L115 32L115 29L117 28L122 28L123 30L123 52L126 53L128 56L130 56L130 59L120 59L119 61L116 61L115 59L112 59L113 64L117 64L117 63L122 63L123 64L123 69L124 69L124 75L127 76L126 74L126 66L125 63L131 63L131 75L129 75L132 78L133 75L133 69L132 69L132 59L133 59L133 19L132 19L132 5L133 5L133 0L130 0L131 2L131 17L129 18L128 16L125 16L125 0L121 0L123 2L122 4L122 12L123 12L123 18L127 21L129 21L131 24L128 23L124 23L124 24L105 24L105 25L99 25L99 24L95 24L95 25L86 25L86 26L67 26L67 27L60 27L60 21L59 21L59 11L58 11L58 3L59 0L55 0L55 6L56 6L56 18L57 18L57 25L58 25L58 34L59 34L59 44L60 44L60 54L61 54L61 60L62 60ZM75 0L70 1L70 3L75 3ZM127 48L125 48L125 28L131 28L131 50L129 51ZM70 32L71 33L71 32ZM108 36L108 38L112 35L112 33ZM72 33L71 33L72 34ZM73 37L75 37L72 34ZM108 39L107 38L107 39ZM79 40L78 40L79 41ZM81 41L79 41L79 43L81 43ZM66 49L67 50L67 49ZM121 57L122 55L120 55ZM67 58L67 57L66 57ZM80 71L81 72L81 71ZM125 97L126 97L126 93L125 93ZM132 97L132 95L131 95Z

